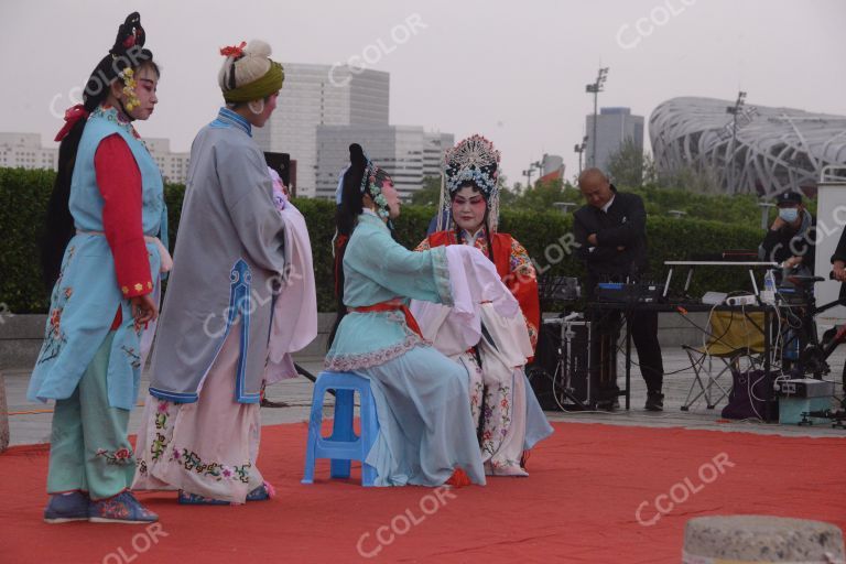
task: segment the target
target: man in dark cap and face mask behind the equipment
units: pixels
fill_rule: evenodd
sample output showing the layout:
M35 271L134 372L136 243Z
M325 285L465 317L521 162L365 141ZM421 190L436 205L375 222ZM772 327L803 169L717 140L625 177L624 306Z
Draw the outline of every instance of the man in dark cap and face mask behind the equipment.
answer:
M779 215L758 248L758 258L778 262L793 273L813 274L816 220L805 209L802 194L788 189L776 198Z

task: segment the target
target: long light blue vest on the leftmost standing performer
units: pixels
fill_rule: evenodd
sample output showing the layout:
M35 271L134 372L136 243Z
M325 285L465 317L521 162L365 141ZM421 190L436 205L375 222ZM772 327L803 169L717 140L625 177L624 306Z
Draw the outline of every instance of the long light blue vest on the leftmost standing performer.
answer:
M97 187L94 156L105 138L119 134L132 151L142 184L142 227L145 236L167 245L167 210L162 174L144 144L118 122L113 108L97 108L83 131L70 182L69 208L77 231L102 232L104 199ZM153 284L160 283L161 258L148 242ZM154 286L155 289L155 286ZM141 379L141 330L133 327L132 310L118 288L115 260L102 235L77 234L65 249L50 304L44 344L30 380L30 401L69 398L121 307L123 323L115 334L109 356L109 404L131 410Z

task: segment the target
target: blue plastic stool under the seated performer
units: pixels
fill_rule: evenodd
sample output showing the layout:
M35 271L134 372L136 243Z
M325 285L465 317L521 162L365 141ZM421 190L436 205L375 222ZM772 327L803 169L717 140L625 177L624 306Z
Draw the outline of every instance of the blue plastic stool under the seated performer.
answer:
M335 390L335 421L332 436L321 436L323 423L323 398L328 390ZM352 429L355 392L361 398L361 436ZM312 414L308 420L308 444L305 453L305 476L303 484L314 484L314 462L332 458L329 476L349 478L350 460L361 462L361 485L372 486L376 468L365 463L370 447L379 432L376 403L370 392L370 381L350 372L321 372L314 384Z

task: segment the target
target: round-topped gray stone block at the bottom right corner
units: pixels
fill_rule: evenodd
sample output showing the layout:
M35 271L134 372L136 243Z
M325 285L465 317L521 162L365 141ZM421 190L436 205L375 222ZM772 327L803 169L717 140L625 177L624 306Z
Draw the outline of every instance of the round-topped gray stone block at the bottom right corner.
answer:
M844 562L843 531L834 524L764 516L699 517L684 530L684 564Z

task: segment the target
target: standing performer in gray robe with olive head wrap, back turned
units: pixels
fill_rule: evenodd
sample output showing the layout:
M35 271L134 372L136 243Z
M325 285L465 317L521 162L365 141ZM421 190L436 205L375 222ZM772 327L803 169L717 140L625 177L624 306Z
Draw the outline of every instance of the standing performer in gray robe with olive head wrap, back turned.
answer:
M263 42L221 54L227 105L191 149L132 486L177 489L189 505L243 503L272 492L256 459L284 225L252 128L275 108L284 75Z

